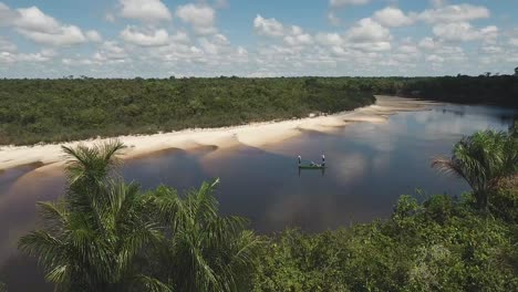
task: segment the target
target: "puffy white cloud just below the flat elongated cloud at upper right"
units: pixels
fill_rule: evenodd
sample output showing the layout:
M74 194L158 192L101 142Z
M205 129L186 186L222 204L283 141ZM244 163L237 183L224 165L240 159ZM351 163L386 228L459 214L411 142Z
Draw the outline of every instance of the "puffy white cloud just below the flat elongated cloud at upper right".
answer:
M484 40L490 42L498 36L498 28L495 25L477 30L468 22L437 24L433 28L436 36L446 41L475 41Z

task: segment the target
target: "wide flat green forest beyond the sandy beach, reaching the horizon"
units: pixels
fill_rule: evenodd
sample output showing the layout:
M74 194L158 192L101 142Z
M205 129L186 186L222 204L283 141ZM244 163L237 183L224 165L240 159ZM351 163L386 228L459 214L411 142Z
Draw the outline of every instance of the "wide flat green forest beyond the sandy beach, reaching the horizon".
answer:
M304 117L374 94L518 107L518 75L0 80L0 145Z

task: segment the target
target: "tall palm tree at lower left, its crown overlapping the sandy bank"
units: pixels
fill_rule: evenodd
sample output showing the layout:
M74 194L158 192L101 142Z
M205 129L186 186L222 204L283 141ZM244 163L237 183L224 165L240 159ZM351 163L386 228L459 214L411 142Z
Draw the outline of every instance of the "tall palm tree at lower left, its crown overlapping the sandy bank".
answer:
M168 291L169 286L134 269L144 246L162 240L149 216L149 200L135 184L110 176L124 146L63 147L72 159L69 189L58 202L39 202L42 229L19 241L22 252L38 257L48 281L59 291Z

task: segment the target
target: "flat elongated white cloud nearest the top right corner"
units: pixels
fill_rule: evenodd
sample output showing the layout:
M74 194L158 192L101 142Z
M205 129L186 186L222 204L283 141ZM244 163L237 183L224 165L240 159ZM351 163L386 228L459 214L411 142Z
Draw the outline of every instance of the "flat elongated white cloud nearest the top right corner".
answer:
M428 23L463 22L476 19L487 19L490 12L485 7L472 4L445 6L428 9L417 15Z

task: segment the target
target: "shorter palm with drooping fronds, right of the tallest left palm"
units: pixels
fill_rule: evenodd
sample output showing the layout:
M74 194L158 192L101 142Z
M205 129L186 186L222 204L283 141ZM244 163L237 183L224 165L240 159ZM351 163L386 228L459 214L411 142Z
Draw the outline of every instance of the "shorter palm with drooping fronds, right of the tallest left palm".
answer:
M174 189L159 187L154 196L169 226L170 237L160 269L178 291L242 291L261 241L246 220L218 216L215 186L204 182L180 198Z

